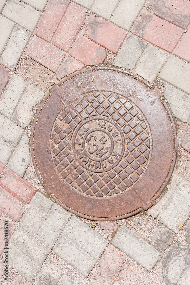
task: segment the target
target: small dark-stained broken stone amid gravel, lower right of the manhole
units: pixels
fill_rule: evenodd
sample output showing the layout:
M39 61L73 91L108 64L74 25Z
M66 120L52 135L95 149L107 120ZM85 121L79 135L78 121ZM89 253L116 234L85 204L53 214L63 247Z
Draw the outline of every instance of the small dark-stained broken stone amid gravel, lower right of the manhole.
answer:
M173 232L164 225L159 225L154 233L151 233L152 244L159 251L164 251L174 239Z

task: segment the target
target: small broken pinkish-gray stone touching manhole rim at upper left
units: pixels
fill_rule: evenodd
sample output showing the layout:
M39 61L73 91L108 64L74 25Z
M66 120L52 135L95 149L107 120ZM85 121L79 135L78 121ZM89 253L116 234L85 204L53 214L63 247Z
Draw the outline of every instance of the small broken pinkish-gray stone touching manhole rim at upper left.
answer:
M72 56L66 55L57 70L57 73L56 73L57 79L60 80L67 74L71 74L75 72L76 70L81 70L83 69L83 67L84 67L84 64L72 58Z

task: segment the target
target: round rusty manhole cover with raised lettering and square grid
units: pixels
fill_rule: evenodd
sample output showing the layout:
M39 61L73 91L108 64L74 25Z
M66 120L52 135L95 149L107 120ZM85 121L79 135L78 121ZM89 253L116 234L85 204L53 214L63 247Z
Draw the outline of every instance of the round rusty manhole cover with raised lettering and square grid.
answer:
M34 165L48 194L89 219L148 209L176 160L176 131L160 92L114 71L54 86L33 126Z

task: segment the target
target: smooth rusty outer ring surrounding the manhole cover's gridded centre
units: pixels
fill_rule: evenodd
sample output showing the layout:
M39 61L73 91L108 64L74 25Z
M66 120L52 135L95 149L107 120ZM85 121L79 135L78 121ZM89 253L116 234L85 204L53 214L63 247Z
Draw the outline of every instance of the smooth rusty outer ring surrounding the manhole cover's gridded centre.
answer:
M135 215L143 209L147 210L153 205L152 201L158 198L166 187L175 167L177 156L177 134L172 115L166 103L159 100L159 97L162 94L158 90L150 90L145 87L144 84L149 87L150 85L144 80L139 82L134 78L131 78L131 75L132 74L129 72L114 68L95 68L90 71L83 70L75 72L70 75L69 78L65 77L57 85L54 85L51 88L50 93L41 103L34 119L31 133L31 153L34 168L41 184L44 186L47 194L49 194L51 198L64 209L85 219L99 221L118 220ZM83 76L87 77L87 79L82 79L80 80L82 83L77 84L79 79L83 78ZM91 81L91 76L95 77L93 82ZM87 80L89 80L88 83ZM133 90L132 96L130 89ZM67 95L69 95L69 98L71 97L73 101L82 94L95 90L117 93L120 97L126 97L128 100L131 100L134 105L136 104L137 108L140 110L143 109L151 128L151 135L153 133L153 158L151 158L150 166L148 166L139 182L135 184L134 187L131 186L131 189L128 189L119 195L120 198L114 196L105 199L97 199L77 193L65 183L66 181L60 181L58 173L55 171L50 153L50 129L55 123L55 119L60 113L60 110L63 110L63 106L68 104L66 101L68 98L66 97L66 93L68 93ZM141 97L139 97L139 94ZM71 103L71 101L69 102ZM148 107L145 107L145 102ZM160 108L159 112L156 108ZM57 113L53 114L51 110L55 110L54 113ZM49 112L48 115L47 112ZM154 113L156 117L154 118L155 122L153 123L152 117L154 116L152 114ZM162 118L164 118L162 121L161 115ZM159 120L161 123L160 125ZM49 121L51 121L50 125L48 124ZM43 127L41 127L41 125ZM156 135L156 127L158 128L158 126L161 130L159 130ZM161 143L165 149L162 149ZM154 147L155 145L157 147ZM160 148L160 150L158 148ZM159 161L158 167L156 168L155 162L159 157L161 157L161 161ZM162 170L162 167L165 167L164 170ZM151 170L152 174L150 174ZM157 174L158 170L160 171L159 177ZM148 184L146 184L146 181ZM82 196L83 199L81 200L78 195ZM110 202L107 202L108 199ZM100 200L103 202L100 202Z

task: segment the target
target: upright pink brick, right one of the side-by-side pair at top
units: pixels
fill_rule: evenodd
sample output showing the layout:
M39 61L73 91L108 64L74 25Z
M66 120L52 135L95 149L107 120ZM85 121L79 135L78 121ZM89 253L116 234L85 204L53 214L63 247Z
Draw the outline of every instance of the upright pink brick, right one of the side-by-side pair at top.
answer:
M85 8L71 2L52 43L68 52L85 20L86 12Z

